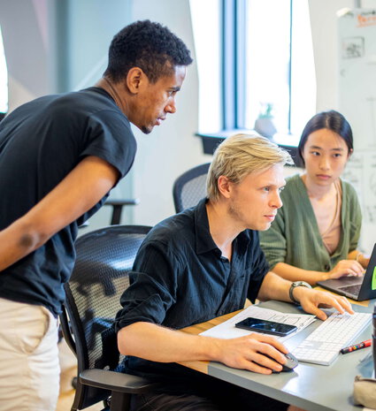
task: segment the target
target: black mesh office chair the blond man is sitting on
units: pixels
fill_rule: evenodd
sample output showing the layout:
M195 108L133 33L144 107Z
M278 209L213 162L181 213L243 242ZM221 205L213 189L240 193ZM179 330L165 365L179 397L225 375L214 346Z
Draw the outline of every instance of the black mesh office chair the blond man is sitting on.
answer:
M65 284L60 316L65 340L78 361L72 411L110 396L110 408L104 409L125 411L130 393L150 389L151 384L142 377L111 371L121 360L111 324L120 308L120 295L129 285L128 271L150 228L113 225L76 240L76 263Z

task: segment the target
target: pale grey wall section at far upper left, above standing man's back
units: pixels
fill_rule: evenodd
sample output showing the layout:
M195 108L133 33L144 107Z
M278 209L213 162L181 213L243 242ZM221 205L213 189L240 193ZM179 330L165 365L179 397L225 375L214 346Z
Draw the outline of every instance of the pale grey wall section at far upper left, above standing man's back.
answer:
M2 0L0 26L8 68L9 111L50 93L53 42L48 0ZM51 22L52 23L52 22Z

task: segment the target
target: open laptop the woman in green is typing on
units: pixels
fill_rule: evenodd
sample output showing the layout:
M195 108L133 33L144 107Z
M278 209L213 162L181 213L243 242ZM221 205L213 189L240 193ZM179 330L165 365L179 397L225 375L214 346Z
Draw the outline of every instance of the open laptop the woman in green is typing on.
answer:
M376 244L372 250L370 263L362 277L326 279L318 281L317 285L356 301L376 298Z

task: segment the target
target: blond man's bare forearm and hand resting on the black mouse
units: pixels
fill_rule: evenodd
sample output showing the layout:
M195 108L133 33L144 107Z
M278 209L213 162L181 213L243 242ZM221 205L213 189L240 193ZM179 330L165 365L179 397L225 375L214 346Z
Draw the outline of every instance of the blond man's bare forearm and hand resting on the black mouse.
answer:
M286 361L281 353L288 352L277 339L263 334L214 339L143 322L121 329L118 346L121 354L154 362L218 361L263 374L270 374L271 369L280 371L280 364Z

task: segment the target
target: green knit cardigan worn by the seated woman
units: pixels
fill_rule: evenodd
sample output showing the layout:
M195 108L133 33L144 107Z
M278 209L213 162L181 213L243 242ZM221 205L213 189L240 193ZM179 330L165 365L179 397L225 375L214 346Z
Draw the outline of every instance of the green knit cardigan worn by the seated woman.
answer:
M280 197L283 206L272 226L260 232L260 243L271 270L277 263L288 263L303 270L329 271L349 252L357 249L362 214L353 186L341 180L341 240L329 255L313 212L307 190L299 175L287 180Z

